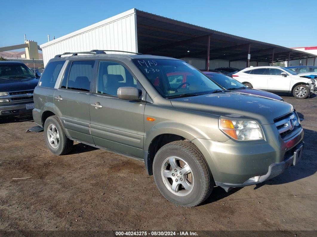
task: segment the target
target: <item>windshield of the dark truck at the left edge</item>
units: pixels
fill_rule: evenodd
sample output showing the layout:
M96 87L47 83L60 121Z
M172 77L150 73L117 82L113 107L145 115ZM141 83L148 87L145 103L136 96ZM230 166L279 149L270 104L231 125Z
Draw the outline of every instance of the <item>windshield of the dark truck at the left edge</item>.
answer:
M31 70L23 64L1 64L0 78L4 79L21 79L35 78Z

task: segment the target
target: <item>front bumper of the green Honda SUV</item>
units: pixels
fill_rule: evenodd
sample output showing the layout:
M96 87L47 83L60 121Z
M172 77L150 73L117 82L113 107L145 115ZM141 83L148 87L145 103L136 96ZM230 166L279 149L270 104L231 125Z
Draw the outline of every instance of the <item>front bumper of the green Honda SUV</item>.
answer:
M265 140L225 142L196 138L216 185L242 187L258 184L281 174L294 161L294 151L303 144L303 129L282 140L274 124L262 125Z

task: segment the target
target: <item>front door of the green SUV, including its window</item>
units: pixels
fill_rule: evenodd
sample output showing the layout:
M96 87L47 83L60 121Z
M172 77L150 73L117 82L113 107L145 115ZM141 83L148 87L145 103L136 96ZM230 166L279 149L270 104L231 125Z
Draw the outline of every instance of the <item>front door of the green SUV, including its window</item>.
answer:
M117 97L119 87L137 84L123 65L100 61L96 90L89 99L91 135L96 146L143 158L145 103Z

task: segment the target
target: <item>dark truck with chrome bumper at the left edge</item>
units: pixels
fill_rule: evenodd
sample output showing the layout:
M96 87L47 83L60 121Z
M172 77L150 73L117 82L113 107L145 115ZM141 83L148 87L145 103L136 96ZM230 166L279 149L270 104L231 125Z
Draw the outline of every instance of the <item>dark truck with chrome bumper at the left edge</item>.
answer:
M21 62L0 62L0 117L32 113L39 78Z

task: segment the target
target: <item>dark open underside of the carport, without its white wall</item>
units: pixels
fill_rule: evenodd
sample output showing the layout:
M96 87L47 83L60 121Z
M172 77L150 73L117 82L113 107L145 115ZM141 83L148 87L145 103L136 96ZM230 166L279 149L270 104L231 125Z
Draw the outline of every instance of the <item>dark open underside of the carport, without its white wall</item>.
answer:
M226 34L137 9L136 23L139 53L201 58L205 60L207 70L209 61L214 59L229 60L229 66L230 62L243 60L248 67L250 60L258 64L316 58L314 54ZM247 59L248 54L251 55L250 60Z

